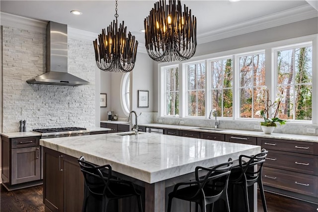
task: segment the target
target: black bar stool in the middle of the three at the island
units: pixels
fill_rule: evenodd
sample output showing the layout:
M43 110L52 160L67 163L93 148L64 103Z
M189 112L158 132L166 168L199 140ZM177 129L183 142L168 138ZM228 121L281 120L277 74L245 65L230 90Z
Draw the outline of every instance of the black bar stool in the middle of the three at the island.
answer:
M227 211L230 212L227 189L232 165L233 160L229 158L227 163L212 168L196 167L195 181L177 183L173 191L169 194L168 212L171 211L173 198L195 202L196 212L198 212L198 205L200 205L201 212L206 212L207 205L214 204L219 199L223 199ZM203 177L199 177L199 172L202 171L207 172L207 174ZM179 189L179 187L182 188ZM213 211L213 205L210 211Z

